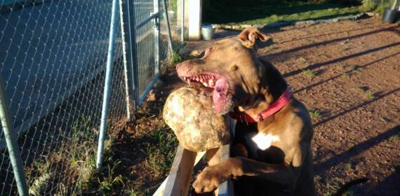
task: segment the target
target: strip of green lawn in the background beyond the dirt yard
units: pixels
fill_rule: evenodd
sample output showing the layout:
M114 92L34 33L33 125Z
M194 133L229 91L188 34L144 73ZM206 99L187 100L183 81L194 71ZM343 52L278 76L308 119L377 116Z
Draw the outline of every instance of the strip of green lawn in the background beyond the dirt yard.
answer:
M229 25L266 25L272 22L338 18L371 10L366 6L340 6L337 3L272 1L268 3L227 3L211 1L204 5L206 23ZM229 15L223 14L229 12Z

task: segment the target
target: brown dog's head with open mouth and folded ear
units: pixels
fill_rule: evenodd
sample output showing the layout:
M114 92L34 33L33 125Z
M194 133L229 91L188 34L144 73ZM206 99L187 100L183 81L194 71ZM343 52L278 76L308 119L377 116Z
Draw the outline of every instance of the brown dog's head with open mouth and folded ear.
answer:
M190 59L176 66L178 76L187 83L213 88L216 113L224 114L236 106L250 109L262 99L261 83L265 68L256 57L256 41L270 37L253 27L234 38L211 45L201 59Z

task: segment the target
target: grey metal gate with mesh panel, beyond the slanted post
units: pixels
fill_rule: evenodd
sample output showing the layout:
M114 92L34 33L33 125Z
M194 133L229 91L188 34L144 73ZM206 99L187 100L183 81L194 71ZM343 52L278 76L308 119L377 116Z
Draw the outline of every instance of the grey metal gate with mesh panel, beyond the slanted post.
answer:
M160 71L159 0L124 1L121 8L126 51L128 118L159 78Z

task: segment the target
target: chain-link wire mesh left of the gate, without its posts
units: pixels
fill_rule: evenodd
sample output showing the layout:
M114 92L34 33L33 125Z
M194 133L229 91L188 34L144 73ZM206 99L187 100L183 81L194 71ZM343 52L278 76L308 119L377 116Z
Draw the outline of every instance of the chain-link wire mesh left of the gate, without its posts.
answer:
M0 73L32 195L71 195L94 172L110 17L111 1L0 0ZM116 27L109 127L126 116ZM16 193L0 134L0 195Z

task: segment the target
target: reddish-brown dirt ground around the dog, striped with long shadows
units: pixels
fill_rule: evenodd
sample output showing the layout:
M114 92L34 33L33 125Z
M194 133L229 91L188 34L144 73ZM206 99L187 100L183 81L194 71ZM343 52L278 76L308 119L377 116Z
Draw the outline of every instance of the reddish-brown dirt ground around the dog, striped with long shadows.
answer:
M262 31L273 40L259 55L284 74L295 97L311 111L318 195L334 193L343 183L364 176L371 180L353 186L348 195L400 195L399 25L369 18ZM238 32L217 36L234 34ZM140 136L165 126L159 116L162 104L180 85L174 69L168 69L149 94L140 120L115 133L120 173L136 181L135 189L145 190L139 195L152 194L168 174L168 169L146 167L149 158L143 148L160 141ZM171 146L166 151L173 155L174 150Z

